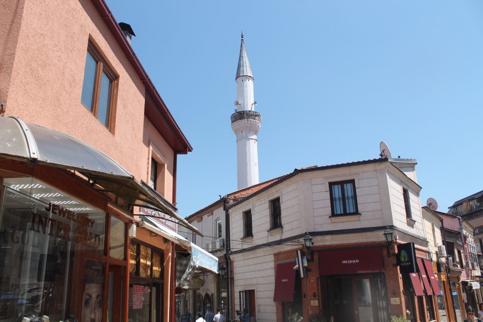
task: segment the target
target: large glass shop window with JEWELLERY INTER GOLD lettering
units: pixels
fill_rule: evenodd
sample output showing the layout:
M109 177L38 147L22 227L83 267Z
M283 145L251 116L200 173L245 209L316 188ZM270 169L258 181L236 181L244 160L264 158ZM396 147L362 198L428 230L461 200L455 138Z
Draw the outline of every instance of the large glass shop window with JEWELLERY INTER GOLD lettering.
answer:
M100 322L106 213L32 178L0 199L0 320Z

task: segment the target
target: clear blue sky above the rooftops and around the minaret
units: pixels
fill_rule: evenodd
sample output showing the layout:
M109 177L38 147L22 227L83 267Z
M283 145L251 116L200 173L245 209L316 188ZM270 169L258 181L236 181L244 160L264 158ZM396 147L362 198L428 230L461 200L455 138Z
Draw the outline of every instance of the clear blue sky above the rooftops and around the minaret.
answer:
M193 146L186 216L236 190L230 127L240 32L255 76L260 181L295 168L418 160L421 201L483 190L483 2L107 0Z

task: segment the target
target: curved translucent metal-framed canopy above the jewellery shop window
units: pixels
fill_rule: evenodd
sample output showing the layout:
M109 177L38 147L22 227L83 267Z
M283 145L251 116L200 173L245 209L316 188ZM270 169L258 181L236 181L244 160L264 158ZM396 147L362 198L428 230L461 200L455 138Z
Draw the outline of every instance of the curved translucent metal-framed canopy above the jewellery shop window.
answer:
M77 171L101 186L102 191L133 206L164 212L199 233L167 201L143 187L111 157L65 133L17 117L0 117L0 156Z

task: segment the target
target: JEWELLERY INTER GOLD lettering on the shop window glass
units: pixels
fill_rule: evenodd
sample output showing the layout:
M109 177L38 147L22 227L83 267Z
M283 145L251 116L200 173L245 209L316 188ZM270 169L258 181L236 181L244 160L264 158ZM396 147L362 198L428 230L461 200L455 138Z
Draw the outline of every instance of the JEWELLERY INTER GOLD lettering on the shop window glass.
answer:
M32 212L29 230L67 241L73 240L76 244L83 244L93 248L101 246L101 236L91 231L96 221L89 218L89 214L75 213L52 203L49 203L48 208L45 208L45 210L51 212L52 215L58 215L59 218L56 219L55 216L50 217L49 214ZM72 230L68 223L62 221L65 219L76 222L77 226ZM21 233L25 234L24 231ZM22 242L24 244L25 236L17 236L14 232L12 233L12 242L15 244Z

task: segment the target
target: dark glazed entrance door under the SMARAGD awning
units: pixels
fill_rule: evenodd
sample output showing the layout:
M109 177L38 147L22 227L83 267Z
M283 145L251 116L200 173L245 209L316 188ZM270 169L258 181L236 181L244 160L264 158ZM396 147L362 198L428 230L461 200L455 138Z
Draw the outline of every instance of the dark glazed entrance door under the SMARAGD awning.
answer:
M376 302L381 294L376 294L377 285L372 276L341 276L331 279L330 293L335 322L379 322Z

